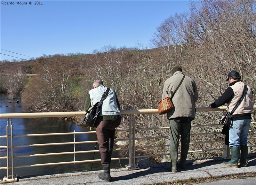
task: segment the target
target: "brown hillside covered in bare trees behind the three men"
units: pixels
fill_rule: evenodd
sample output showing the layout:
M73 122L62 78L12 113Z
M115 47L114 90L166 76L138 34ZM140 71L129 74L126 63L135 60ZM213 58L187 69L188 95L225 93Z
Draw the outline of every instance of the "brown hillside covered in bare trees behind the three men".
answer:
M190 12L170 16L156 28L151 39L152 48L140 44L136 48L109 45L94 50L90 55L43 56L33 64L16 68L16 71L7 71L1 66L1 89L22 92L26 112L83 111L93 81L100 79L116 91L122 110L157 109L164 81L171 76L174 66L181 66L183 73L196 81L199 93L196 107L207 107L224 92L231 70L238 71L242 81L252 88L255 102L255 10L255 0L192 1ZM28 71L36 75L26 76ZM3 74L13 75L3 77ZM221 114L197 112L192 124L217 124ZM252 117L255 121L255 111ZM127 127L128 120L128 116L123 116L121 127ZM137 128L163 127L168 126L168 122L162 115L136 115L136 125ZM256 129L255 125L252 127ZM204 129L198 127L191 132L202 133ZM221 127L209 129L221 131ZM163 134L166 135L140 132L142 136ZM249 136L255 137L255 133ZM222 135L203 137L205 141L223 139ZM191 142L197 139L191 138ZM166 139L150 142L165 143ZM255 145L255 140L250 142ZM191 146L190 150L193 147L205 149L212 144ZM207 153L202 155L209 157Z

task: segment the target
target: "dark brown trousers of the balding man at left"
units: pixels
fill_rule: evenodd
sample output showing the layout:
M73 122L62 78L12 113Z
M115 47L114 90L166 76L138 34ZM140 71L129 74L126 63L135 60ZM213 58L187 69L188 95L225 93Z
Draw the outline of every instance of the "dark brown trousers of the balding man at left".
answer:
M109 145L112 142L113 147L115 130L120 123L121 121L102 120L99 125L96 124L96 135L99 142L100 160L102 166L109 166L110 164L112 152L109 152Z

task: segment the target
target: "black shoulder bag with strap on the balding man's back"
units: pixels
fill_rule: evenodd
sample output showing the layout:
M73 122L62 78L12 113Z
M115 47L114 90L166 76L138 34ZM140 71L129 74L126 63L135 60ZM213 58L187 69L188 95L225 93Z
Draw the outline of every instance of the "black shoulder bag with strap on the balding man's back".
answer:
M109 88L105 91L105 93L102 95L100 102L97 102L96 104L92 105L89 110L86 112L84 121L86 126L95 127L95 122L99 116L100 110L102 108L102 103L108 96Z

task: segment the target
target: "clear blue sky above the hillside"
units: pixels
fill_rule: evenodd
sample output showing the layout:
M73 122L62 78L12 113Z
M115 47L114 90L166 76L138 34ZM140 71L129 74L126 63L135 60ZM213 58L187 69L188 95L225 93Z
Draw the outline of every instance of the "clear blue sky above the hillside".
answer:
M29 2L1 0L0 53L28 59L43 54L89 54L108 45L149 46L164 19L189 10L188 0L42 0L41 5ZM3 54L1 60L19 59Z

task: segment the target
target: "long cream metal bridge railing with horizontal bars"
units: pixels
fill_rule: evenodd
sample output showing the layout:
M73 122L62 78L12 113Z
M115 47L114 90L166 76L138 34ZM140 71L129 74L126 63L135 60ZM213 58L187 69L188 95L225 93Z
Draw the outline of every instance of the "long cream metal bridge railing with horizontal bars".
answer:
M253 107L256 109L256 106ZM226 110L227 107L217 107L217 108L210 108L210 107L197 107L196 112L208 112L208 111L223 111ZM116 139L115 141L129 141L129 147L128 148L116 148L114 150L129 150L129 156L128 157L119 157L119 158L111 158L111 160L122 160L122 159L129 159L129 164L125 165L125 167L128 170L135 170L139 169L138 166L136 166L136 158L144 158L144 157L154 157L154 156L164 156L164 155L170 155L170 153L162 153L162 154L152 154L152 155L140 155L136 156L135 151L137 149L143 149L143 148L154 148L154 147L168 147L169 145L155 145L155 146L140 146L136 147L135 140L146 140L146 139L161 139L161 138L168 138L169 136L157 136L157 137L141 137L136 138L135 133L136 131L140 130L162 130L162 129L169 129L169 127L157 127L157 128L141 128L136 129L135 127L135 120L134 120L134 114L155 114L158 113L158 109L150 109L150 110L122 110L122 115L130 115L129 119L129 129L124 130L116 130L116 132L129 132L129 138L127 139ZM77 142L76 141L76 135L80 134L95 134L96 131L88 131L88 132L68 132L68 133L51 133L51 134L27 134L27 135L13 135L13 127L12 127L12 118L48 118L48 117L70 117L70 116L84 116L85 112L44 112L44 113L6 113L6 114L0 114L0 119L7 119L7 125L6 125L6 135L1 135L0 138L6 138L6 146L0 146L0 149L6 149L6 156L0 157L0 160L7 160L5 167L0 167L0 170L6 169L7 175L4 177L3 182L13 182L17 181L17 175L13 174L14 168L24 168L24 167L35 167L35 166L48 166L48 165L61 165L61 164L75 164L75 163L86 163L86 162L96 162L100 161L100 159L93 159L93 160L79 160L76 161L76 154L80 153L93 153L93 152L99 152L99 150L85 150L85 151L76 151L76 145L82 144L82 143L96 143L98 141L82 141ZM255 122L254 122L255 123ZM192 125L191 127L207 127L207 126L218 126L219 124L213 124L213 125ZM256 130L250 130L250 131L256 131ZM191 134L193 135L211 135L211 134L220 134L220 132L211 132L211 133L200 133L200 134ZM50 135L74 135L74 140L72 142L66 142L66 143L42 143L42 144L28 144L28 145L14 145L13 138L15 137L31 137L31 136L50 136ZM11 142L9 142L9 139L11 139ZM248 139L256 139L254 137L248 138ZM220 157L222 158L230 158L230 149L229 146L224 144L224 140L214 140L214 141L201 141L201 142L192 142L190 144L201 144L201 143L215 143L215 142L223 142L223 148L217 148L217 149L208 149L208 150L194 150L189 151L189 153L193 152L203 152L203 151L213 151L213 150L223 150L223 155ZM11 143L11 145L9 144ZM74 151L72 152L59 152L59 153L44 153L44 154L32 154L32 155L13 155L13 149L18 147L34 147L34 146L55 146L55 145L74 145ZM248 146L248 147L256 147ZM11 152L9 152L9 149ZM55 162L55 163L44 163L44 164L33 164L33 165L23 165L23 166L14 166L13 164L13 158L25 158L25 157L38 157L38 156L50 156L50 155L64 155L64 154L74 154L74 160L68 161L68 162ZM9 170L11 170L11 175L9 175Z

